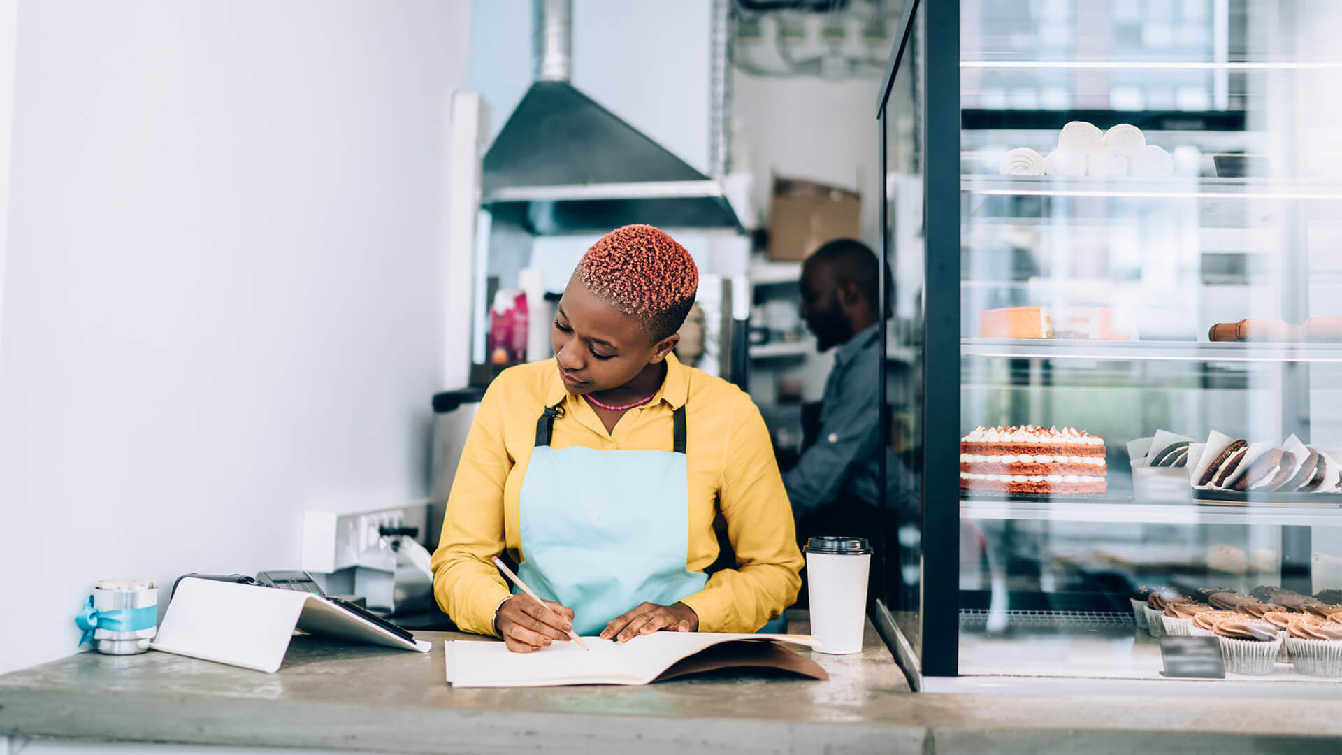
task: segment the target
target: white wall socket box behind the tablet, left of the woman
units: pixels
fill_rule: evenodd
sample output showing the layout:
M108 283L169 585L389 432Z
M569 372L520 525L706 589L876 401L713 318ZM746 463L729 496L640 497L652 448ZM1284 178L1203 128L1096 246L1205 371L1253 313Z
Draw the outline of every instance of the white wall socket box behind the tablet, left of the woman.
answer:
M419 527L423 541L428 500L404 506L303 513L303 571L330 574L353 566L391 568L396 556L378 548L381 527Z

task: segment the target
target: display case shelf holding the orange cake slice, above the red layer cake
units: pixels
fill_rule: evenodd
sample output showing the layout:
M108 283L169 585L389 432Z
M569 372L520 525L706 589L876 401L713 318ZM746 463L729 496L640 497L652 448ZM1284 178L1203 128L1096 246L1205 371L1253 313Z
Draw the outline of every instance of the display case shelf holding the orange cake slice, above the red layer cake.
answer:
M961 356L1133 361L1342 363L1342 344L961 339Z

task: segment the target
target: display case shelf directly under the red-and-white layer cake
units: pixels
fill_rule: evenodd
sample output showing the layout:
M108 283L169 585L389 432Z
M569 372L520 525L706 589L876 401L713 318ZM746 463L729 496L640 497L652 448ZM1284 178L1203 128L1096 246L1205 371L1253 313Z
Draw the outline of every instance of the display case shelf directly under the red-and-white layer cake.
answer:
M1129 497L1023 501L976 493L961 498L961 516L990 520L1096 521L1141 524L1342 525L1342 494L1319 493L1310 505L1223 506L1194 501L1147 502ZM1327 498L1335 497L1337 502Z

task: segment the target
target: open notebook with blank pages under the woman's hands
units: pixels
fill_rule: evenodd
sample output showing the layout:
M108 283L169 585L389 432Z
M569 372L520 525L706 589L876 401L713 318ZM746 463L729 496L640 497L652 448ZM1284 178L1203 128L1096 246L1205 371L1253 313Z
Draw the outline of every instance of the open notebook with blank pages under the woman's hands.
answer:
M447 641L447 681L452 686L558 686L568 684L648 684L727 668L773 668L829 678L820 664L780 642L816 646L807 634L714 634L656 631L619 645L584 637L590 650L556 642L534 653L511 653L502 642Z

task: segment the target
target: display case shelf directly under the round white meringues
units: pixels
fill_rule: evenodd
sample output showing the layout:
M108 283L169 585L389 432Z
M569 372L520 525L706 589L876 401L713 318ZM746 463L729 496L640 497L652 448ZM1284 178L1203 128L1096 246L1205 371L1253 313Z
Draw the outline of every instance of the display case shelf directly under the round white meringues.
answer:
M964 176L962 193L1114 199L1342 200L1342 185L1294 179L1062 179L1055 176Z

